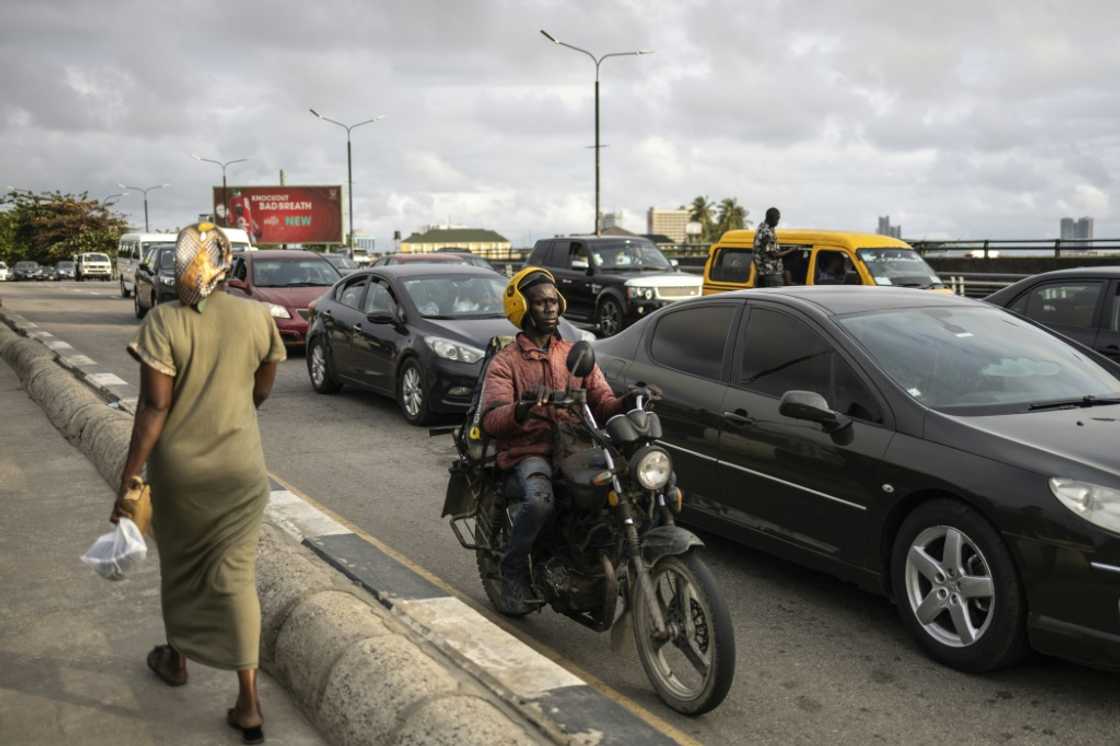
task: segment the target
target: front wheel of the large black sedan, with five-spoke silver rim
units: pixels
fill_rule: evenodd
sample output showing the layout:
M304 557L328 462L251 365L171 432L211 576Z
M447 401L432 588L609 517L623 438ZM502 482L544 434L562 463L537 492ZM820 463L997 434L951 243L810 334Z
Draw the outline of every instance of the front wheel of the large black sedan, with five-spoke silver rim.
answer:
M1027 651L1027 602L999 532L972 507L934 500L903 521L890 553L903 623L935 661L970 673Z

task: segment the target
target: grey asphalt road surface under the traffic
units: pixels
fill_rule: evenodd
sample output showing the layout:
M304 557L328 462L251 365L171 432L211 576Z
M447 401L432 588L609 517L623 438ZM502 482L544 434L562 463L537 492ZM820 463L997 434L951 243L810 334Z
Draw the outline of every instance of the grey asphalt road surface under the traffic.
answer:
M137 319L115 285L4 283L0 299L138 383L124 352ZM488 609L474 558L439 519L448 438L429 438L372 394L316 394L301 353L281 365L261 428L273 473ZM709 744L1120 742L1120 675L1043 656L996 674L958 673L916 649L885 598L704 539L738 646L731 693L708 716L692 720L662 706L633 647L615 653L606 634L551 612L505 625Z

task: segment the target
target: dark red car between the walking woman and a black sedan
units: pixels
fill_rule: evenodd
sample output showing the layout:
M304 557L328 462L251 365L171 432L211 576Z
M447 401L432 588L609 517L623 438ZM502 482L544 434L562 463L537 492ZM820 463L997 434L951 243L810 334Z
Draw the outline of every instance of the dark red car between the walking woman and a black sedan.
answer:
M267 304L284 344L304 346L307 308L342 274L311 251L245 251L233 260L228 292Z

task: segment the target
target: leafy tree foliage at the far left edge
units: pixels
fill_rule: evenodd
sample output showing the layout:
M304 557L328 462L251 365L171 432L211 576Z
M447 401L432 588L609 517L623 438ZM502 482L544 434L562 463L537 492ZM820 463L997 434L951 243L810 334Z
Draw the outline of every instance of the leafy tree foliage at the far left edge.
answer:
M116 254L123 215L86 193L11 190L0 213L0 258L53 264L86 251Z

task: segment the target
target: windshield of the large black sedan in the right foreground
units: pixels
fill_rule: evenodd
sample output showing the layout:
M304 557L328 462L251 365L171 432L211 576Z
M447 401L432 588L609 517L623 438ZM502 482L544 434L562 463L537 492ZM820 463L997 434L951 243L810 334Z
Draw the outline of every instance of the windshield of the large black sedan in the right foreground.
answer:
M1120 397L1086 353L996 308L911 308L838 319L911 397L951 414Z

